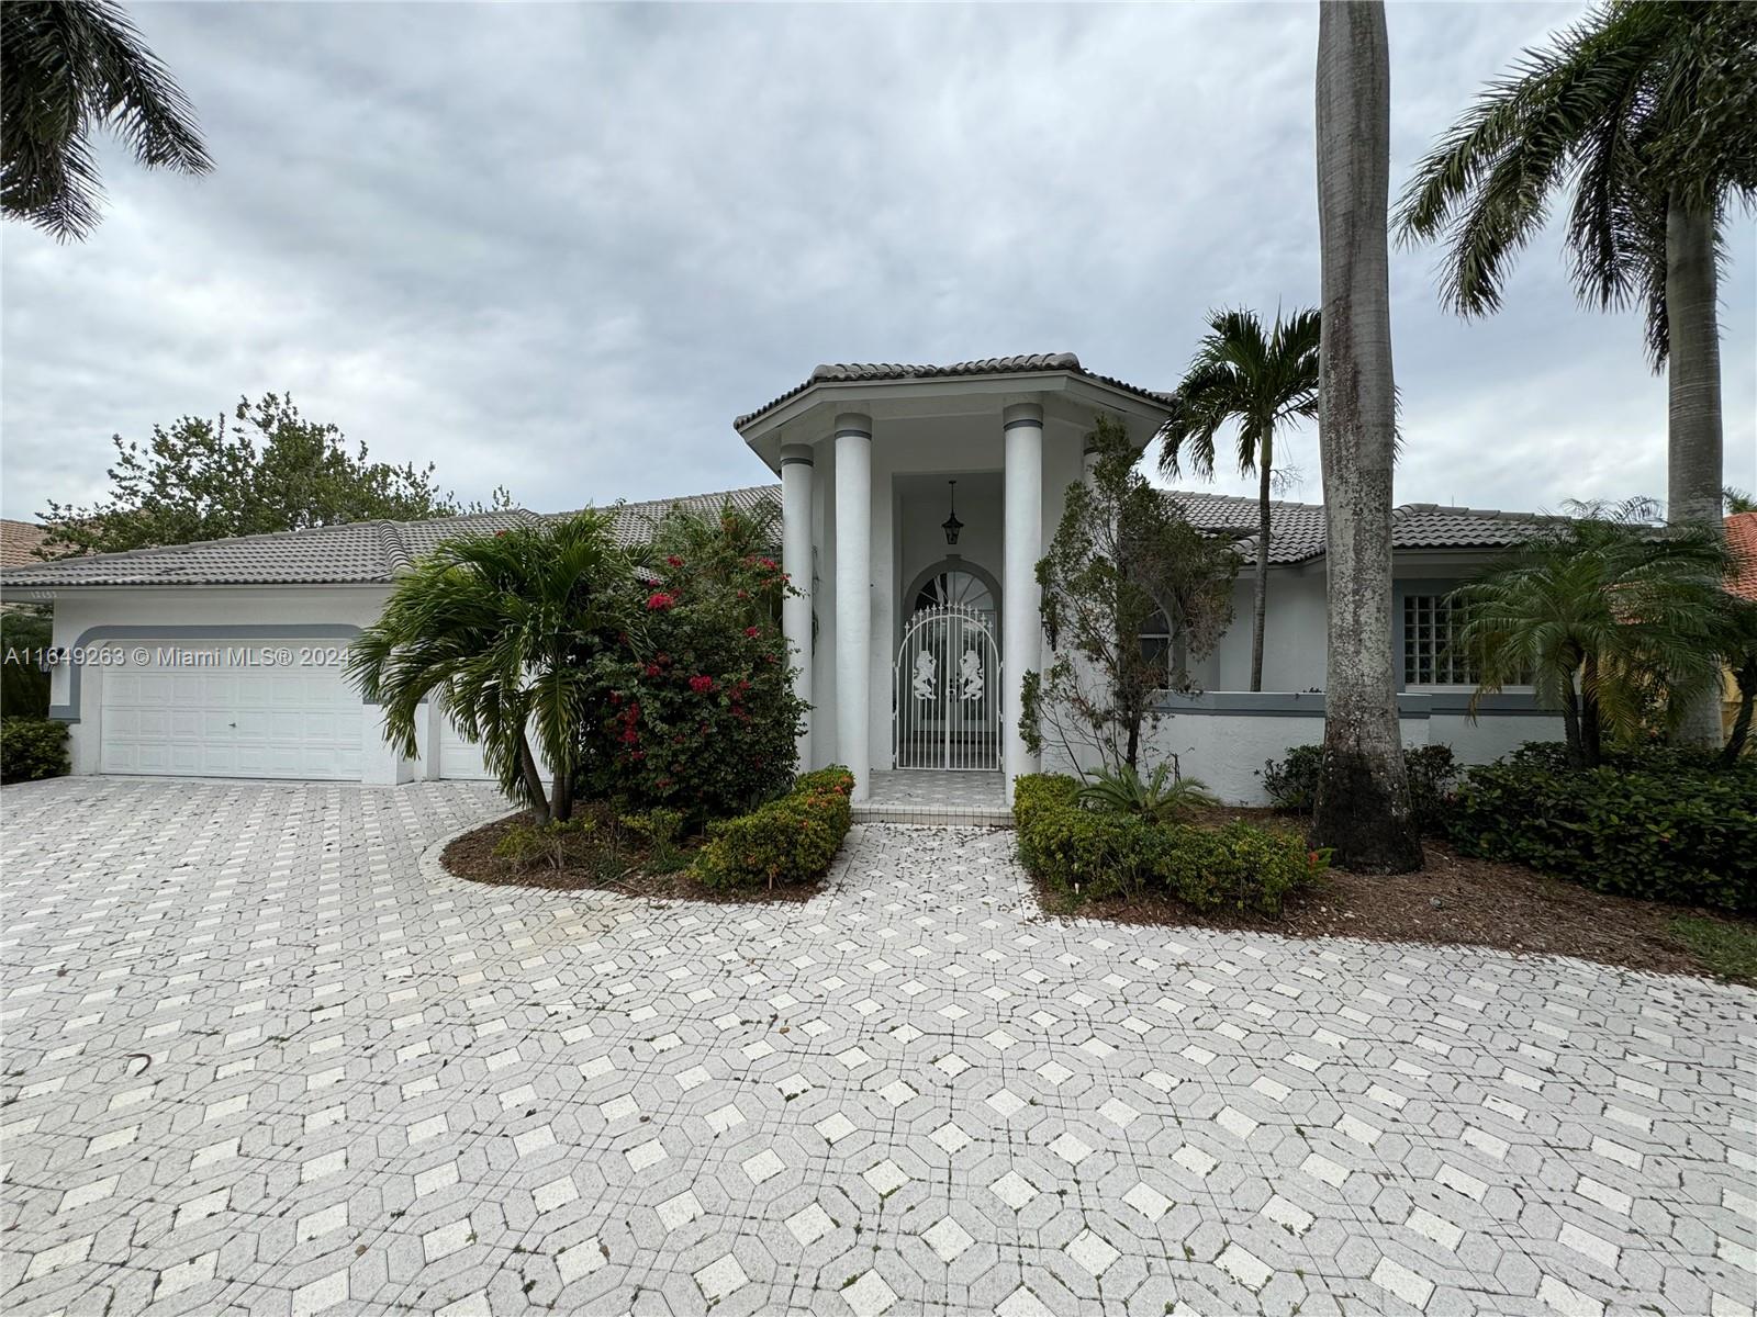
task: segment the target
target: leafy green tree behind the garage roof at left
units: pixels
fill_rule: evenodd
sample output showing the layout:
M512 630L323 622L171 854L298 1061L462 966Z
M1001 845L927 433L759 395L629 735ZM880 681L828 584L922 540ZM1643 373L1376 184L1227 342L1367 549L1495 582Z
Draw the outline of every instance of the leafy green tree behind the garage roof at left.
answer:
M230 420L184 416L146 444L114 435L111 492L90 507L49 502L44 551L111 553L199 539L467 511L434 486L434 467L367 460L336 425L307 421L292 397L239 399ZM494 506L510 506L495 490Z

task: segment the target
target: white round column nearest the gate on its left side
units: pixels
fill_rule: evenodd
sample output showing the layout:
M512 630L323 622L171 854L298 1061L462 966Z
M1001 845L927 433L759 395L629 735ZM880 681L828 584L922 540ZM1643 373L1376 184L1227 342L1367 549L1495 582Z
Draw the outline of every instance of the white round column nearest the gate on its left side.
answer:
M836 416L836 753L854 771L854 799L871 783L873 423Z

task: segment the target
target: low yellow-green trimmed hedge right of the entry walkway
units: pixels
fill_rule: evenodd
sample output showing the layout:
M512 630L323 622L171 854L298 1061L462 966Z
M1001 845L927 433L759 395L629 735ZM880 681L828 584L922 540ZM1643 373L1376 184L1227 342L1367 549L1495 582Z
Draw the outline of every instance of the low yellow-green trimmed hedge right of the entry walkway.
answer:
M1298 838L1249 824L1205 829L1086 810L1079 783L1049 773L1017 780L1012 817L1021 864L1070 896L1161 894L1195 910L1276 915L1330 860Z

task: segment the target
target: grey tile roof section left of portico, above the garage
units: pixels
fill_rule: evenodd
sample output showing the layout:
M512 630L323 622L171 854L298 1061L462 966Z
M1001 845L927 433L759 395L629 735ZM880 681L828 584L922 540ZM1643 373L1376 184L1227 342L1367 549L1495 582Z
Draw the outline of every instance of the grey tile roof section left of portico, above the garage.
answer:
M631 544L647 537L654 522L673 506L717 513L726 502L741 511L764 497L780 495L778 485L696 493L682 499L617 504L611 534ZM374 585L390 581L415 558L432 553L460 534L492 534L515 525L539 525L571 513L539 515L517 507L504 513L473 513L427 522L353 522L348 525L283 530L271 536L237 536L195 544L97 553L84 558L33 562L7 567L7 588L116 587L116 585Z

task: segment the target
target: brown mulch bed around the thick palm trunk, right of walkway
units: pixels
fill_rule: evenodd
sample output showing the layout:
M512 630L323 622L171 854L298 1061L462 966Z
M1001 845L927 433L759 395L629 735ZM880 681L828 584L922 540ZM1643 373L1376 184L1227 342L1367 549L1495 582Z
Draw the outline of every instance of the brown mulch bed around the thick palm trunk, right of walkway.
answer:
M1197 822L1240 818L1260 827L1304 832L1305 820L1272 810L1212 810ZM1239 911L1200 913L1165 897L1081 901L1038 883L1038 903L1056 913L1079 913L1119 924L1163 924L1205 929L1277 932L1284 938L1365 938L1372 941L1493 946L1504 952L1576 955L1583 961L1650 969L1662 975L1708 973L1671 931L1671 920L1696 915L1741 927L1708 910L1604 896L1523 864L1460 855L1448 843L1425 838L1427 869L1413 874L1360 874L1330 869L1291 897L1281 917Z

